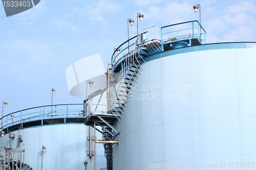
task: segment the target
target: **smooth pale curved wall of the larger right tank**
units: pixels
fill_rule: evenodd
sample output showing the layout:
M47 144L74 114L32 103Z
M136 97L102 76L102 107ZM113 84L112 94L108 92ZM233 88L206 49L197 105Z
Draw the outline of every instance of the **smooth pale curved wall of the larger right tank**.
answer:
M223 163L231 168L232 162L252 166L255 54L256 43L220 43L145 57L121 123L114 125L120 132L114 170L170 164L178 169L184 162L191 168Z

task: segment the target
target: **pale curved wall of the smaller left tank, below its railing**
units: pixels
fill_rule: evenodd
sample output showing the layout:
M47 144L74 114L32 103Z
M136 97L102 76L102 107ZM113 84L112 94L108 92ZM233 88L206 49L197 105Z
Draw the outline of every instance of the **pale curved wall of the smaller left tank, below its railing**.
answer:
M12 139L12 148L16 148L18 130L11 133L15 134L15 138ZM89 150L87 133L89 134L89 127L83 124L57 124L25 128L20 131L23 139L20 148L26 149L26 153L41 163L42 145L45 145L43 165L49 170L85 169L83 164L85 161L88 162L87 170L93 170L94 156L91 158L87 156L87 150ZM101 139L101 134L96 133L96 138ZM1 146L9 148L9 133L0 137L0 143ZM97 169L106 167L102 143L96 144L96 155Z

